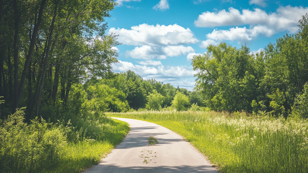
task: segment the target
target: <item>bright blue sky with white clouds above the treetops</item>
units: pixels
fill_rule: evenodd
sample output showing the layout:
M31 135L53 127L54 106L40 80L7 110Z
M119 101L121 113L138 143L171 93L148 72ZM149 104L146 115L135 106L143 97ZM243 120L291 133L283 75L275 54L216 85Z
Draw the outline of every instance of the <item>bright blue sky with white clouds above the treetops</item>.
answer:
M308 1L115 0L108 33L118 34L115 72L133 70L193 90L191 57L208 44L246 44L260 51L286 33L298 31Z

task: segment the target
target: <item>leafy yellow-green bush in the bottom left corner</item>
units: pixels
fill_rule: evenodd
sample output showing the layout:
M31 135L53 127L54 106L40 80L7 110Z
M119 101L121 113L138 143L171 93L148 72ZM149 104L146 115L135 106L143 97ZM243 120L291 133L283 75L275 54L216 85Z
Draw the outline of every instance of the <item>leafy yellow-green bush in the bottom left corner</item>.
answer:
M39 172L59 161L67 145L59 126L35 118L24 123L24 108L0 124L0 172Z

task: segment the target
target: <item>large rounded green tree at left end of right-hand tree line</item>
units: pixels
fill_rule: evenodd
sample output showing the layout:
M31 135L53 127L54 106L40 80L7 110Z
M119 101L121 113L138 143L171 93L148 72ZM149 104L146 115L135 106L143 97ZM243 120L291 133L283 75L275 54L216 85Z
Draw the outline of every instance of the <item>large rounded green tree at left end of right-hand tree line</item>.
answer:
M208 53L192 59L193 69L198 71L196 90L205 105L213 110L250 111L251 102L257 100L260 79L255 61L260 60L246 46L237 49L220 43L207 48Z

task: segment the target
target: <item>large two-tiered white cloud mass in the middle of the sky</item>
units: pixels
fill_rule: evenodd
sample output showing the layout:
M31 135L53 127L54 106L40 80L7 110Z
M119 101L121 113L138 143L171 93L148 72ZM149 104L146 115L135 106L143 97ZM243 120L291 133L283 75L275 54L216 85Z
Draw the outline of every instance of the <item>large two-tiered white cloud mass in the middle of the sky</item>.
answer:
M133 26L130 30L111 28L109 34L111 33L119 35L119 42L137 46L126 51L126 56L144 60L186 55L194 50L182 44L194 44L199 41L189 28L185 29L177 24L154 26L144 23Z

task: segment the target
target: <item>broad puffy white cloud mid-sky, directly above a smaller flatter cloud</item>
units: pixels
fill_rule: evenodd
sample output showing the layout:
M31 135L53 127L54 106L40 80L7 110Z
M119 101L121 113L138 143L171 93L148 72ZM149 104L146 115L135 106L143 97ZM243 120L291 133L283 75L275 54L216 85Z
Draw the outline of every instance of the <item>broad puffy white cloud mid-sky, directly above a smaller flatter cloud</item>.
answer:
M144 23L131 27L131 30L110 28L110 33L118 34L119 42L134 46L194 44L199 41L189 28L185 29L177 24L154 26Z

